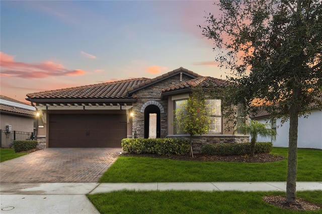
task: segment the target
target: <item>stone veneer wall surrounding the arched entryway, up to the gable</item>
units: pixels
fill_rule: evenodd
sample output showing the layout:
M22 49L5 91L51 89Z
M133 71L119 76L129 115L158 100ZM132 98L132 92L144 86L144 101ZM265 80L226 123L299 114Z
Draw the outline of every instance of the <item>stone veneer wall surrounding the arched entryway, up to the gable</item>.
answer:
M192 79L189 76L183 75L183 81ZM138 138L144 138L144 112L141 112L142 106L148 101L156 101L164 108L164 113L160 115L160 137L165 138L168 135L168 100L161 100L162 89L180 83L180 74L151 86L143 88L133 93L137 96L137 102L133 103L134 117L132 119L132 136L136 131Z

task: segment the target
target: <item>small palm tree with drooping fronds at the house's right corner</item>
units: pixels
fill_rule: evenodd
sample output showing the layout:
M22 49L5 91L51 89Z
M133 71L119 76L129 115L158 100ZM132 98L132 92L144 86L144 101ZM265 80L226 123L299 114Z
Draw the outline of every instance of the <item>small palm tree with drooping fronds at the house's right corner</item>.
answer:
M276 131L266 127L267 124L262 124L258 121L251 120L249 124L241 124L239 127L244 131L245 134L251 136L251 152L250 156L255 155L255 145L257 141L257 136L270 137L275 139Z

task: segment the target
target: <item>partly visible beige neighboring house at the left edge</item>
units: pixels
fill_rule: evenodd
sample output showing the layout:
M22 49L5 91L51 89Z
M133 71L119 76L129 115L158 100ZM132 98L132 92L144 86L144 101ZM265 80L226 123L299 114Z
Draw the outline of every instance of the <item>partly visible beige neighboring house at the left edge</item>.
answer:
M30 139L34 133L36 108L0 95L1 147L11 148L13 140Z

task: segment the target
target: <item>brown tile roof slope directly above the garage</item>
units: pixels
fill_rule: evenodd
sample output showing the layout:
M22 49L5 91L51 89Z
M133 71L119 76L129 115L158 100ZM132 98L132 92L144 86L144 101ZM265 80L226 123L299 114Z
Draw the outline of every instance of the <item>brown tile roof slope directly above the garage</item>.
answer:
M127 88L139 85L149 80L148 78L133 78L115 82L105 82L94 85L85 85L58 90L50 90L36 93L28 93L30 99L126 99L131 98L128 95Z

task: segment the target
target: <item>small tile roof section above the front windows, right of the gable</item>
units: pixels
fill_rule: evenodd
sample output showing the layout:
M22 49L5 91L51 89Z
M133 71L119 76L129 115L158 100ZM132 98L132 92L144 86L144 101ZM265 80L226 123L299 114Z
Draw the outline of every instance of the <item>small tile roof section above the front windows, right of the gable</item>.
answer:
M222 80L222 79L218 79L210 76L200 76L198 78L191 79L189 81L185 81L177 85L172 85L168 88L164 88L162 89L162 92L181 90L181 89L195 87L198 85L202 87L209 87L209 86L221 87L227 84L228 84L228 81L226 80Z

